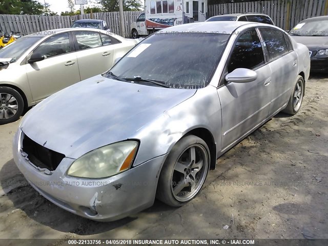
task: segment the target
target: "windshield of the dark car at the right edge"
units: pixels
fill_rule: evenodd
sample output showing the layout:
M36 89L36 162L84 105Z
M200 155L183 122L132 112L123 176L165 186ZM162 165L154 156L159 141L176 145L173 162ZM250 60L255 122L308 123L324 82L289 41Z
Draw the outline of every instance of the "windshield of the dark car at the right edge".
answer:
M301 22L290 32L292 36L328 36L328 20Z

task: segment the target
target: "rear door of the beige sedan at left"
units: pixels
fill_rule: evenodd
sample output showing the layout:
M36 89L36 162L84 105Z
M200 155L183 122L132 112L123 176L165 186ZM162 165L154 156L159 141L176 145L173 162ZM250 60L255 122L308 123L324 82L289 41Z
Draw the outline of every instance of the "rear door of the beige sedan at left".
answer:
M110 35L94 31L74 31L73 37L81 80L104 73L112 67L112 44L115 42Z

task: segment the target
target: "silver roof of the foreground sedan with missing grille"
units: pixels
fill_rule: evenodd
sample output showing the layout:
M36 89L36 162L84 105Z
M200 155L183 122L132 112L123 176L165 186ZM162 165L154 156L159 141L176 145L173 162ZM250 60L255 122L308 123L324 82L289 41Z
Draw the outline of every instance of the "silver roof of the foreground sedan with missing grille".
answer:
M158 31L158 33L171 33L171 32L182 32L182 33L218 33L218 34L232 34L237 28L244 25L254 25L257 26L271 26L261 23L252 23L252 22L198 22L183 24L178 26L173 26L165 28Z

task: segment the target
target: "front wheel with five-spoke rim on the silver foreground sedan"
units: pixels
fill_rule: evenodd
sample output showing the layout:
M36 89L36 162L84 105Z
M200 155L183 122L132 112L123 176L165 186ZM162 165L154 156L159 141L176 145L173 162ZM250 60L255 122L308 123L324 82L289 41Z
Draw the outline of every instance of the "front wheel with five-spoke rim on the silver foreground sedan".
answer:
M172 148L161 170L156 198L181 207L200 192L210 169L210 150L194 135L181 138Z

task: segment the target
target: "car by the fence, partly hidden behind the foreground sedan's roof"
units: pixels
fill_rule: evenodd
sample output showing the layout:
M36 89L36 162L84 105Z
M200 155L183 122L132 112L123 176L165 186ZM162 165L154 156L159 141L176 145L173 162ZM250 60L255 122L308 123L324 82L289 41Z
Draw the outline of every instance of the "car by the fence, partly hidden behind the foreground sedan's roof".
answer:
M236 13L222 14L208 18L206 22L222 22L222 21L237 21L237 22L257 22L275 25L269 15L261 13Z

